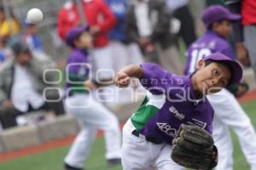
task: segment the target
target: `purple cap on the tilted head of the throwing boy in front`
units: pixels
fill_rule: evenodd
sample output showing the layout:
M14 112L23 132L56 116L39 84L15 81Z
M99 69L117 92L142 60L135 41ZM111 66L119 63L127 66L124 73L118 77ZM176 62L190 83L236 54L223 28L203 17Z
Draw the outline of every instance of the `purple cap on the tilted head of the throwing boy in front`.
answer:
M227 65L231 71L231 79L229 84L236 84L241 81L242 68L241 65L239 65L235 60L232 60L226 55L220 53L210 54L203 59L205 61L212 60Z

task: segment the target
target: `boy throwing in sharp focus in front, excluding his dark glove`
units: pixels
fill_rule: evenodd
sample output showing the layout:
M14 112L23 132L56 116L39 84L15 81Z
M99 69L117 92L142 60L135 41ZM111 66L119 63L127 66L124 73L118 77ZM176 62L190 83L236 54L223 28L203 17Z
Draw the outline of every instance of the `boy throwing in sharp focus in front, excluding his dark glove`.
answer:
M149 63L128 65L119 71L115 82L120 88L137 77L148 90L123 129L123 169L184 169L171 159L177 129L187 124L212 133L213 110L205 95L240 82L241 75L236 61L218 53L201 59L189 76L177 76Z

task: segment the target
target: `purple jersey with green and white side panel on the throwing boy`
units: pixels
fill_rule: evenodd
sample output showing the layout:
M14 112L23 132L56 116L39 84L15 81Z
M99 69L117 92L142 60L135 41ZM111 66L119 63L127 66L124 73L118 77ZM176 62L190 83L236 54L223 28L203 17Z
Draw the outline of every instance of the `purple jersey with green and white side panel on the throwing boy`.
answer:
M190 124L212 133L213 110L207 98L195 99L190 76L177 76L159 65L142 65L140 82L148 94L131 122L140 133L172 144L180 125Z

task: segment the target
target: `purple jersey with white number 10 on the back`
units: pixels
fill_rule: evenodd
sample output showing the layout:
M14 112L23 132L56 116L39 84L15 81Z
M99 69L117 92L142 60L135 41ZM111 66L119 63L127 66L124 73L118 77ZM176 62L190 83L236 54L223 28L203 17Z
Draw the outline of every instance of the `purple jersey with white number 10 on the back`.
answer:
M230 59L234 59L232 48L229 42L223 37L219 37L214 31L207 31L202 37L192 43L186 53L185 75L195 71L200 59L212 53L224 54Z

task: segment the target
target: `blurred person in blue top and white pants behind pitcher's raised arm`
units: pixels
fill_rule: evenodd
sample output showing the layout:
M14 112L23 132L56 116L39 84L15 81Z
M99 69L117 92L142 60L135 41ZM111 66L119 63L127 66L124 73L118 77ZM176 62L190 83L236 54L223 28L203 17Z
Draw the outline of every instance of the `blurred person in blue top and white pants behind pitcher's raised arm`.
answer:
M116 25L109 31L109 47L113 56L114 72L116 73L125 65L141 64L143 63L143 54L137 42L129 39L126 33L126 18L127 8L129 5L128 0L106 0L109 8L115 15L117 20ZM127 103L134 100L135 90L139 86L138 82L133 83L130 88L121 89L112 85L111 88L117 92L113 105L117 103ZM102 96L103 97L103 96ZM106 96L105 98L109 98ZM107 105L111 105L108 102Z

